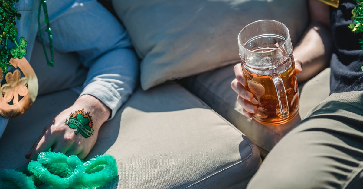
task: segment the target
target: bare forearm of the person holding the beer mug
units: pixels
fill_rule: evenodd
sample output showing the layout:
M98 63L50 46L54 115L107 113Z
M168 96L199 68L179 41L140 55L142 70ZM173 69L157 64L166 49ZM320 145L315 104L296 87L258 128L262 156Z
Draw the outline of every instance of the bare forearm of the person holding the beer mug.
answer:
M294 49L294 58L302 63L302 74L297 77L303 82L317 75L329 65L331 39L324 24L313 21L309 25L301 43Z

